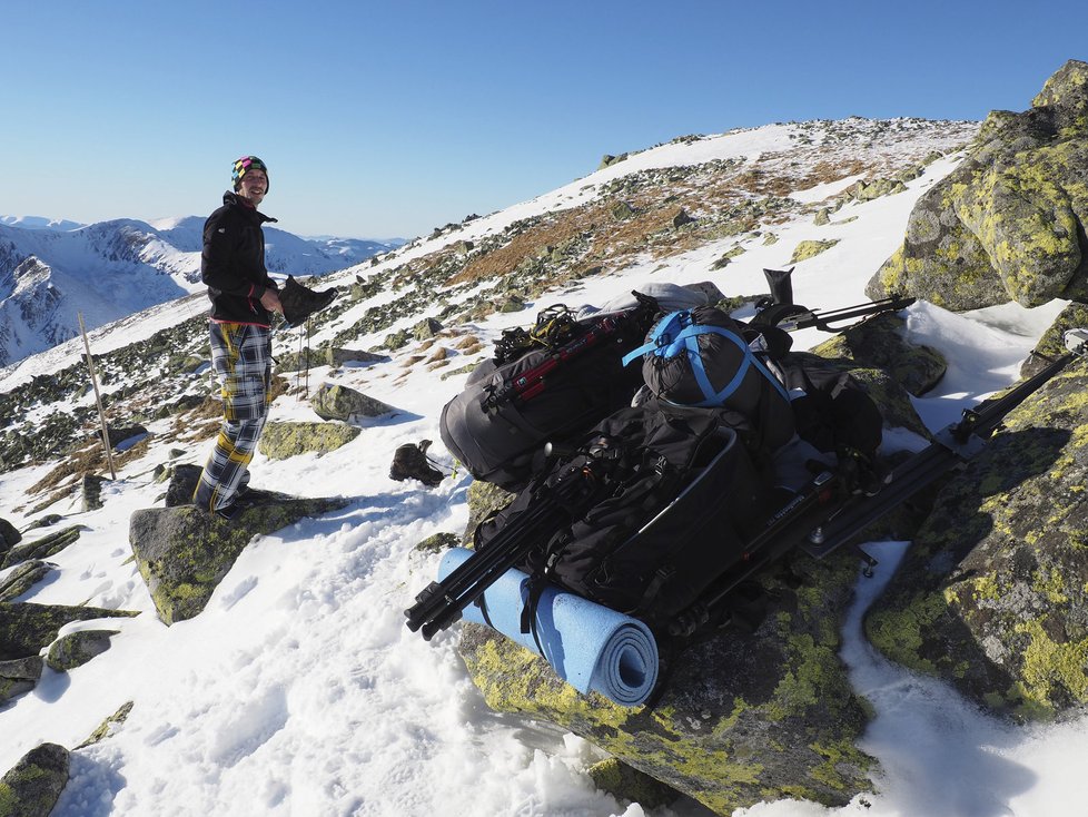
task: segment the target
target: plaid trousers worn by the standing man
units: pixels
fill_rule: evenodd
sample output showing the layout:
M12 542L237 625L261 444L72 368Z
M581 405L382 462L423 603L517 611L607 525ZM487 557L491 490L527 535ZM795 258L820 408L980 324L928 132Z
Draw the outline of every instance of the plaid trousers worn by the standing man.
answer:
M222 426L192 494L199 508L226 508L249 482L247 466L271 402L271 331L212 323L211 365L222 394Z

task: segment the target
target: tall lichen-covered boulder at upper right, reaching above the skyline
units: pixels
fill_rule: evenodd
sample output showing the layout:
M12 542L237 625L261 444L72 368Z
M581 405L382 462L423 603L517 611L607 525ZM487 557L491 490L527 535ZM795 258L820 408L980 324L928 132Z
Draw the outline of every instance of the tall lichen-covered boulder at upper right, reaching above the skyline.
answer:
M870 297L949 309L1088 297L1088 63L1070 60L1023 114L995 111L967 159L917 203Z

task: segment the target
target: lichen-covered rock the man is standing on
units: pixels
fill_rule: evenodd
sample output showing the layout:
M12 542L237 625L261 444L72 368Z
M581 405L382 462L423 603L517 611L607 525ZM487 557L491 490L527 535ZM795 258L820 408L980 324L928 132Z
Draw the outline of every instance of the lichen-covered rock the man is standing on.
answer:
M344 508L344 499L277 498L243 508L229 522L194 505L148 508L129 520L129 544L159 618L197 616L249 541Z

